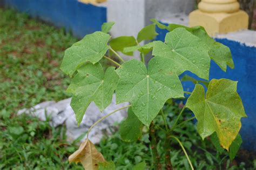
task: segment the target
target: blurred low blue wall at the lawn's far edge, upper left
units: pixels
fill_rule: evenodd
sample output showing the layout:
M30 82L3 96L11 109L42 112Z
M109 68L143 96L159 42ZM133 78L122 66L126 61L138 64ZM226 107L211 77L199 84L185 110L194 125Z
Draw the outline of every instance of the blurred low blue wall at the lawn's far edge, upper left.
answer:
M78 38L101 30L106 22L106 8L76 0L5 0L4 5L57 27L64 27Z

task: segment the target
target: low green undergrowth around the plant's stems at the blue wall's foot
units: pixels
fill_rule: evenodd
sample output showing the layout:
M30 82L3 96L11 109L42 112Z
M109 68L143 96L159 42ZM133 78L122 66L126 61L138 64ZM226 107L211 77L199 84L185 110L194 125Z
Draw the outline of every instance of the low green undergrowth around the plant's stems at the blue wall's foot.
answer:
M167 116L167 122L171 126L176 120L178 113L180 112L182 104L166 104L165 115ZM181 119L186 120L191 117L191 112L185 112ZM157 124L164 127L163 119L161 115L156 118ZM182 120L180 120L182 121ZM117 130L113 128L114 130ZM141 140L134 143L126 143L120 139L118 132L113 133L111 137L105 137L100 141L99 151L103 153L106 160L113 160L117 166L117 169L131 169L133 165L145 160L148 168L152 165L151 151L149 147L149 136L147 135L147 129L144 128L144 134ZM165 133L158 128L156 131L157 138L159 140L158 150L161 156L161 162L164 164L164 139ZM193 121L184 124L181 127L174 130L176 135L183 143L188 156L191 159L194 169L255 169L256 157L255 154L240 151L237 157L231 161L228 157L228 153L219 153L214 148L210 138L201 140L196 129L196 125ZM171 148L171 160L175 169L190 169L185 154L181 150L178 142L172 141Z

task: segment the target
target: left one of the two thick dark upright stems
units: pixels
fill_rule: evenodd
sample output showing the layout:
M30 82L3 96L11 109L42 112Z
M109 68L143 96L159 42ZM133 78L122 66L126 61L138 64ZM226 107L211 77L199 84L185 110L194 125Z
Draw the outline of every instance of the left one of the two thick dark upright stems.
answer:
M157 151L157 139L156 139L156 131L153 128L154 123L153 121L150 124L150 144L151 144L151 151L152 151L152 158L153 158L153 166L156 170L161 170L161 164L160 164L160 156L158 155Z

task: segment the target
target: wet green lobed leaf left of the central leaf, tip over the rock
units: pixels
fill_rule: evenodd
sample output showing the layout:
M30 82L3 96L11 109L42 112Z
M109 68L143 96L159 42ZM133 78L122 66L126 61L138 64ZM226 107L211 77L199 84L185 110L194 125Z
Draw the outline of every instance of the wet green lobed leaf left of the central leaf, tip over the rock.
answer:
M114 67L109 67L104 75L103 67L99 63L95 65L87 63L80 67L77 72L67 91L73 94L71 107L76 113L78 124L80 124L92 101L95 102L100 111L109 106L116 89L118 76Z

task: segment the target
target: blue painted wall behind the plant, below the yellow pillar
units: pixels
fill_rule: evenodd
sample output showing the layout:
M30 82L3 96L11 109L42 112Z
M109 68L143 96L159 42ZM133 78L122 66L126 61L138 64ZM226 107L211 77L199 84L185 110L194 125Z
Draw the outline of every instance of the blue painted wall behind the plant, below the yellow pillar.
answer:
M157 28L159 33L157 40L164 41L167 30ZM210 80L227 78L238 81L238 93L245 107L247 118L242 118L242 128L240 131L243 143L242 147L250 151L256 151L256 47L245 46L238 42L227 39L215 39L230 47L235 68L227 68L224 72L220 67L211 61ZM186 71L181 75L188 74L193 78L199 79L195 74ZM184 90L193 91L194 84L183 82Z

